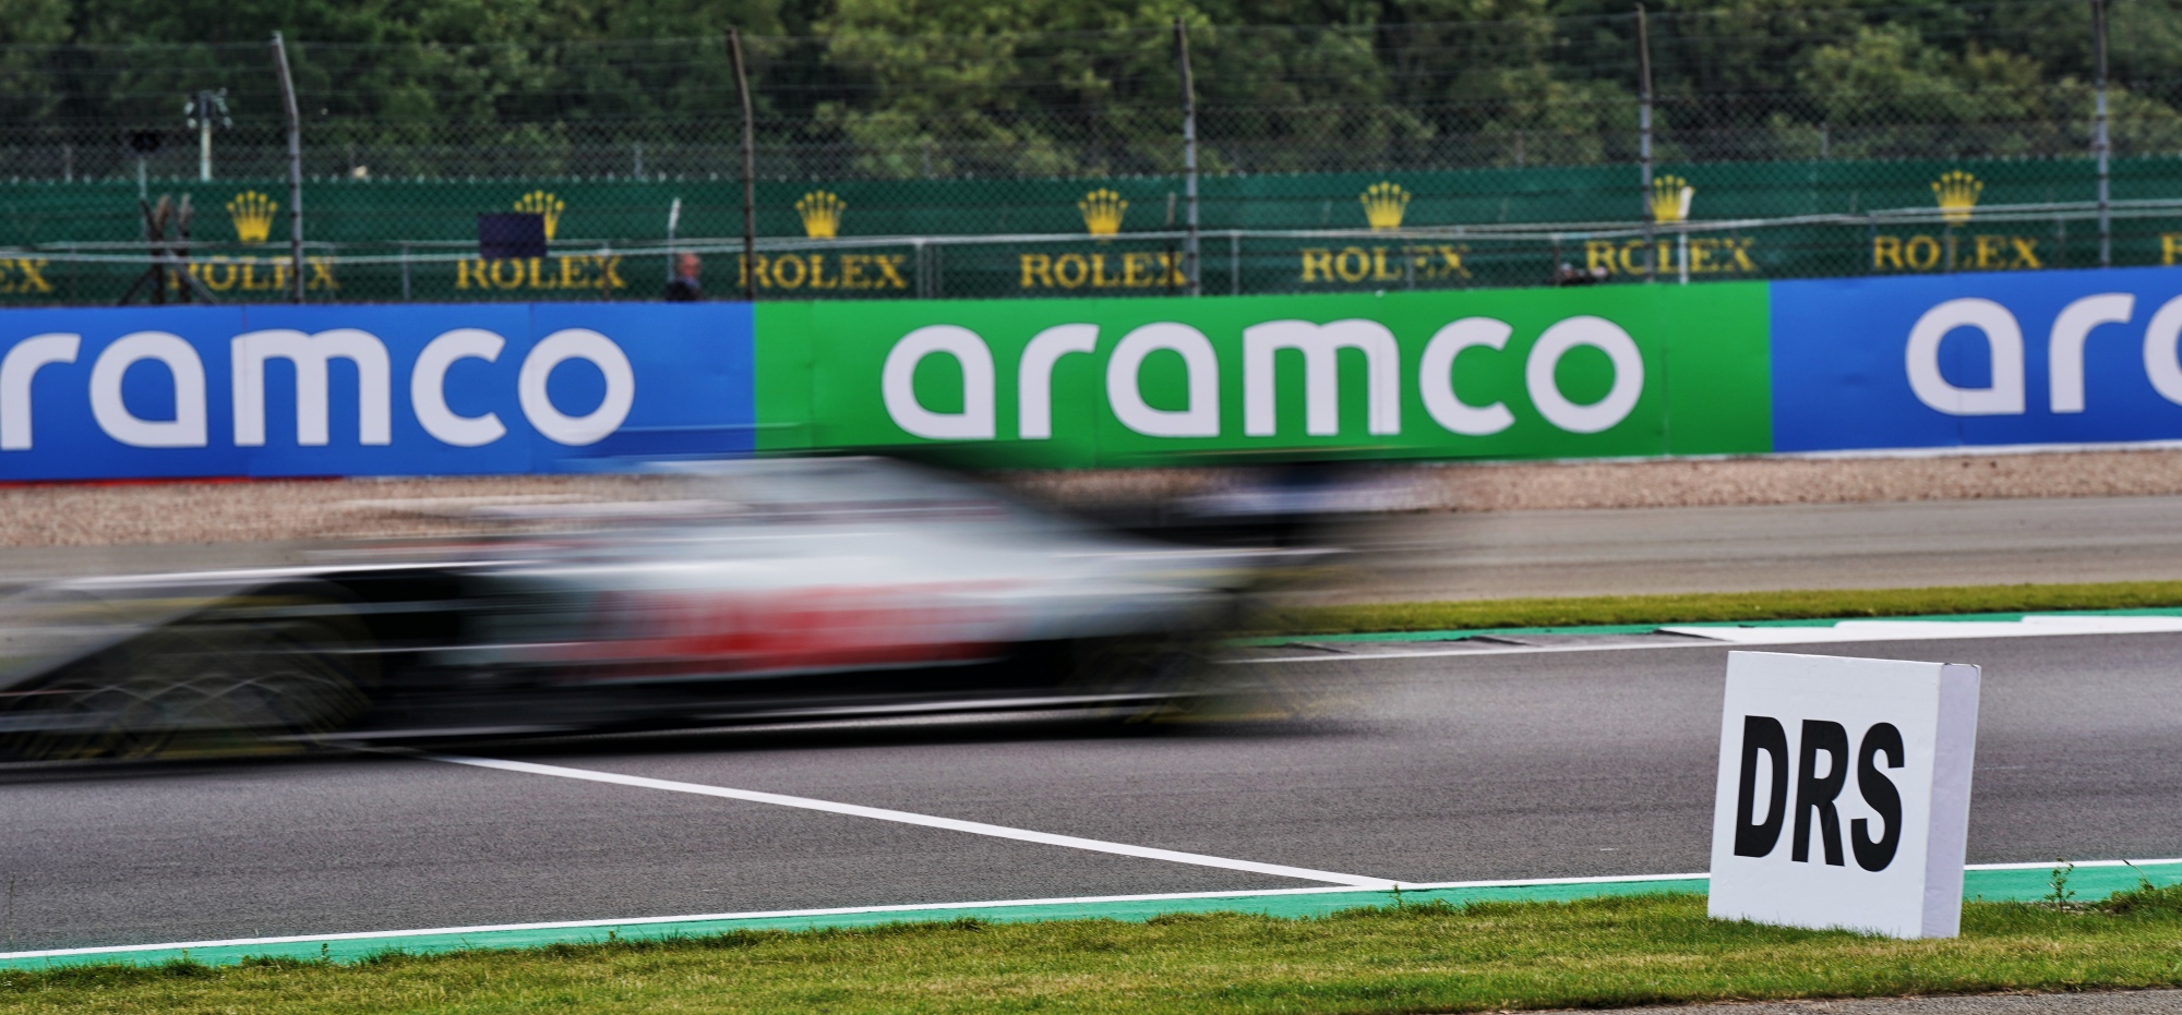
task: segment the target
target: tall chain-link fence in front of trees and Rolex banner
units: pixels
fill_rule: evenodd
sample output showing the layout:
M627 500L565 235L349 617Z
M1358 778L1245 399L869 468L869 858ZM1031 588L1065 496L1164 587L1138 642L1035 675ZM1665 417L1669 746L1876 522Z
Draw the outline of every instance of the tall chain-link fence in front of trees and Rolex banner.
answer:
M2182 9L2117 0L2103 59L2099 17L1185 24L1196 209L1176 26L744 37L748 277L871 298L2175 264ZM286 52L305 298L659 298L672 253L738 294L724 39ZM286 298L271 46L13 46L0 76L0 301ZM487 257L489 213L537 216L541 255Z

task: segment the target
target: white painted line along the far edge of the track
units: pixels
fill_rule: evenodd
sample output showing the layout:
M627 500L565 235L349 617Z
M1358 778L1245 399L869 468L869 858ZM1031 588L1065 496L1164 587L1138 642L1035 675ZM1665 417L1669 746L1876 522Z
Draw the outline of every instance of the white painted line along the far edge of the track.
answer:
M1951 640L1951 638L2055 638L2084 634L2182 634L2182 616L2066 616L2031 614L2021 621L1839 621L1833 627L1733 627L1733 625L1676 625L1661 627L1661 634L1685 638L1706 638L1702 643L1619 643L1619 645L1492 645L1471 647L1462 638L1449 638L1444 647L1401 649L1401 651L1355 651L1355 653L1311 653L1224 660L1233 667L1257 662L1372 662L1372 660L1418 660L1444 656L1547 656L1556 651L1654 651L1654 649L1722 649L1741 645L1829 645L1829 643L1883 643L1883 640ZM1298 643L1307 636L1294 638ZM1383 645L1383 643L1379 643ZM1460 647L1458 647L1460 645Z

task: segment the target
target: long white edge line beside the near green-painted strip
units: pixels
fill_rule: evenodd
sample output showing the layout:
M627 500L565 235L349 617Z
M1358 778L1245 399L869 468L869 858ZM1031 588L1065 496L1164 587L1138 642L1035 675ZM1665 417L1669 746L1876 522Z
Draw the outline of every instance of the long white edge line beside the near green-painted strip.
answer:
M2077 860L2077 867L2160 867L2160 865L2182 865L2182 858L2169 860ZM1973 863L1964 869L1970 871L2034 871L2042 867L2053 867L2049 863ZM1680 882L1709 878L1706 873L1626 873L1626 876L1604 876L1604 878L1519 878L1519 880L1484 880L1484 882L1403 882L1403 891L1431 891L1431 889L1549 889L1556 884L1617 884L1617 882ZM919 910L956 910L956 908L1012 908L1012 906L1095 906L1106 902L1174 902L1174 900L1244 900L1261 895L1331 895L1355 891L1351 886L1324 886L1324 889L1244 889L1244 891L1170 891L1170 893L1146 893L1146 895L1074 895L1074 897L1050 897L1050 900L986 900L986 902L912 902L901 906L840 906L840 908L772 908L772 910L744 910L744 913L692 913L683 917L626 917L626 919L561 919L546 924L471 924L458 928L412 928L412 930L345 930L338 934L288 934L288 937L229 937L214 941L166 941L155 945L89 945L89 947L44 947L35 952L0 952L0 961L11 958L63 958L83 954L124 954L124 952L166 952L181 947L262 947L262 945L295 945L295 943L319 943L319 941L364 941L375 937L436 937L436 934L487 934L502 930L583 930L583 928L628 928L646 924L709 924L729 919L796 919L796 917L847 917L860 913L919 913Z

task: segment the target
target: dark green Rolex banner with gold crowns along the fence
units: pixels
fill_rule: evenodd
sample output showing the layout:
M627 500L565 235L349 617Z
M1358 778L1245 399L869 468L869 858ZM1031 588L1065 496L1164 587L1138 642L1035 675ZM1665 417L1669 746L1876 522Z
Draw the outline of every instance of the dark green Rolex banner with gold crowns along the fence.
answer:
M2099 264L2084 159L1665 163L1200 181L1198 279L1215 294L1357 294L1599 283L2049 272ZM2182 264L2182 159L2114 159L2117 266ZM655 301L668 248L705 288L762 301L1172 296L1189 288L1185 183L1128 179L759 181L742 257L733 179L310 181L312 303ZM277 303L292 290L286 183L153 181L188 259L168 298ZM188 216L181 203L188 200ZM2077 211L2045 209L2075 203ZM2165 211L2162 211L2165 209ZM539 257L482 250L478 216L537 216ZM1643 220L1652 222L1650 242ZM1512 233L1510 233L1512 229ZM135 292L133 181L0 183L0 305Z

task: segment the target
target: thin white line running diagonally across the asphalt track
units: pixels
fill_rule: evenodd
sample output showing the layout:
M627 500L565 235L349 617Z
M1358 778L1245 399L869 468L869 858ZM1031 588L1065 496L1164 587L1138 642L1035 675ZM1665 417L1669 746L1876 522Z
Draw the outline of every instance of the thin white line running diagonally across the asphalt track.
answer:
M500 760L500 758L465 758L456 754L415 754L415 758L425 758L447 765L473 765L478 769L521 771L528 775L556 775L563 780L611 782L615 786L659 788L668 793L694 793L700 797L746 799L751 804L775 804L783 808L825 810L829 815L871 817L879 821L899 821L903 826L945 828L949 832L969 832L993 839L1015 839L1019 843L1063 845L1069 849L1135 856L1141 860L1167 860L1167 863L1187 863L1196 867L1220 867L1224 871L1270 873L1274 878L1331 882L1331 884L1346 884L1353 889L1392 889L1401 884L1388 878L1314 871L1309 867L1283 867L1276 863L1257 863L1257 860L1228 860L1224 856L1185 854L1176 849L1152 849L1146 845L1108 843L1104 839L1078 839L1071 834L1032 832L1028 828L988 826L984 821L958 821L951 817L912 815L908 810L866 808L862 804L836 804L831 799L788 797L781 793L759 793L748 788L705 786L698 782L650 780L644 775L620 775L611 771L567 769L561 765L532 765L532 762ZM1401 886L1407 889L1407 884Z

